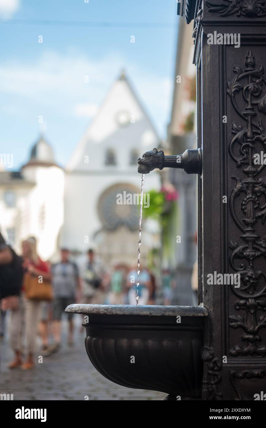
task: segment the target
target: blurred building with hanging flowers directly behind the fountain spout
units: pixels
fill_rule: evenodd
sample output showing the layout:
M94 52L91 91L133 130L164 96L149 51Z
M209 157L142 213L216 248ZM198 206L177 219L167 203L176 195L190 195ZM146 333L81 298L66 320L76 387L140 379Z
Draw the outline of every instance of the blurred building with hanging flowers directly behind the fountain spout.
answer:
M178 25L175 86L167 132L168 150L172 155L197 147L196 69L193 65L194 46L191 36L193 22L187 25L180 18ZM174 274L176 288L172 304L191 305L191 274L196 260L194 235L197 227L197 178L182 169L171 168L164 171L163 180L169 181L178 191L176 209L164 231L163 265ZM167 236L170 238L167 239Z

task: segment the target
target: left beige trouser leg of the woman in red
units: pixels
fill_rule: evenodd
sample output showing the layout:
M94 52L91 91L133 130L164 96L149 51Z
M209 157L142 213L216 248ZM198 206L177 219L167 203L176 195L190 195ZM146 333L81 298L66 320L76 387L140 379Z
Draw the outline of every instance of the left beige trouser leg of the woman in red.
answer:
M25 327L25 306L22 296L18 298L18 308L11 310L9 340L13 351L22 351L22 337Z

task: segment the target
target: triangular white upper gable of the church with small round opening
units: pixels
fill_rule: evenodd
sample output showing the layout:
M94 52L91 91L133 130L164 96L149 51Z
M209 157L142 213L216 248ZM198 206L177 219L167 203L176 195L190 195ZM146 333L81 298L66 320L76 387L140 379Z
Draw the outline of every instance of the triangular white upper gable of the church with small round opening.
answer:
M96 117L76 147L67 169L71 172L100 171L133 166L147 146L158 145L159 138L122 75L114 82ZM137 159L136 159L137 162Z

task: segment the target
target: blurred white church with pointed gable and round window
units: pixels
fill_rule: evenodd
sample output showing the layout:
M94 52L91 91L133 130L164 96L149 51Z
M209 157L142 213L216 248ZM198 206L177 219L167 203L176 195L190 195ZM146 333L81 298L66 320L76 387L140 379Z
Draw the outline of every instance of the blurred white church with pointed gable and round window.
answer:
M139 207L125 199L118 204L117 195L140 193L137 159L159 144L155 128L122 72L67 164L63 245L81 252L96 247L106 263L132 264L137 254ZM157 174L146 176L145 192L159 187ZM148 244L158 245L156 236L156 230L149 233L146 229L144 253Z

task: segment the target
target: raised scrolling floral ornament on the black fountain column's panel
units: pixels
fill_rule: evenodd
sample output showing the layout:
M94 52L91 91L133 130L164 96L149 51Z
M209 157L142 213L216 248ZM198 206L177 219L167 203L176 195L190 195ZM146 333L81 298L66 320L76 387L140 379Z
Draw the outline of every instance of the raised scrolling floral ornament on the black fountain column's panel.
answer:
M234 271L240 273L241 279L240 288L232 285L231 289L239 297L234 304L235 309L246 312L245 317L231 315L229 326L244 331L241 339L246 345L234 346L230 355L264 357L266 346L260 346L258 342L262 339L260 330L266 328L266 315L261 312L259 315L258 311L266 311L266 274L257 267L256 259L266 257L266 235L261 238L255 225L258 220L264 224L266 218L266 177L260 176L265 164L255 165L254 155L257 154L257 147L263 154L266 151L266 130L261 119L256 122L257 111L266 114L266 77L262 65L255 67L251 51L247 53L245 65L244 71L239 65L234 65L235 77L227 83L231 104L246 122L245 126L233 123L233 137L228 146L231 158L246 175L242 179L232 177L235 185L229 199L231 215L244 241L243 244L232 241L229 244L232 250L229 263ZM242 95L244 110L239 107L237 93ZM240 209L236 210L235 205L239 200ZM237 259L243 261L238 265Z

